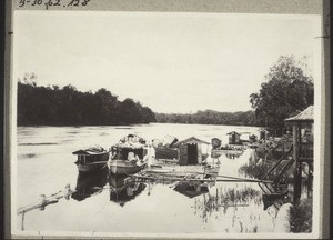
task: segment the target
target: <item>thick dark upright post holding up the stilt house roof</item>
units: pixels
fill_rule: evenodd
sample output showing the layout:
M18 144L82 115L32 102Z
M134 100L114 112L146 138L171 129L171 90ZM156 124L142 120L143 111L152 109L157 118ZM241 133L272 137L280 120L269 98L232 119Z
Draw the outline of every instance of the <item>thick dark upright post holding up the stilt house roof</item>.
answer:
M294 199L293 202L297 203L301 199L301 184L302 184L302 164L299 159L299 136L300 136L300 126L297 122L293 123L293 159L295 160L295 170L294 170Z

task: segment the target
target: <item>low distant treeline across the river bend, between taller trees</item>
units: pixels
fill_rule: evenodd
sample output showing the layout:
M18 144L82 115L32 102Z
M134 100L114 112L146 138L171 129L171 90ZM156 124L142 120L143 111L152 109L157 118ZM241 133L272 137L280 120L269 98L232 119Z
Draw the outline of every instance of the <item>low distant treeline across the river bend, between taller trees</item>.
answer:
M226 124L226 126L262 126L254 111L218 112L213 110L196 113L155 113L158 122Z

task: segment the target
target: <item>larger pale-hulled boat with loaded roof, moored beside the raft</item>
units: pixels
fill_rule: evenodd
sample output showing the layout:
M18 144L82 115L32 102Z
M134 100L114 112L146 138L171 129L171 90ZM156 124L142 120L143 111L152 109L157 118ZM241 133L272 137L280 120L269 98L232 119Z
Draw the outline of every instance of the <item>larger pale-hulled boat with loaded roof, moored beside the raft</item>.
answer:
M132 136L132 134L131 134ZM127 138L112 146L110 159L107 163L113 174L134 174L145 168L148 163L148 148L133 138Z

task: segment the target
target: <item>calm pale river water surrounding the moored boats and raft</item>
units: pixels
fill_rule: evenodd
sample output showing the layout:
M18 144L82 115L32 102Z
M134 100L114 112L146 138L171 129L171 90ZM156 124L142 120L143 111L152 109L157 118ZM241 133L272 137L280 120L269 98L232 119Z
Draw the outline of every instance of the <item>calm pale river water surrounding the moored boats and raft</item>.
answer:
M80 194L60 199L43 210L17 218L18 231L102 233L231 233L271 232L272 218L263 210L256 183L218 182L198 196L174 190L173 183L140 182L131 198L112 193L107 172L79 174L73 151L100 144L105 149L129 133L144 139L167 134L179 140L195 136L228 143L230 131L259 134L259 128L203 124L152 123L131 127L19 127L17 151L17 208L37 202L67 183ZM219 157L220 174L239 177L238 169L253 154ZM121 181L121 179L120 179ZM218 199L216 199L218 198Z

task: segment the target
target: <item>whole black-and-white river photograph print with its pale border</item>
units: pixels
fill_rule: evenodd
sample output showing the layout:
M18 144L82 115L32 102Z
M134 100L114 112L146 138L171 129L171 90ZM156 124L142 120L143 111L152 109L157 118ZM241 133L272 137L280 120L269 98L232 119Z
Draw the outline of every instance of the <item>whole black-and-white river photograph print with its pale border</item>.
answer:
M324 21L14 11L11 233L317 238Z

